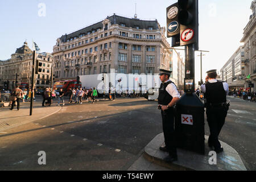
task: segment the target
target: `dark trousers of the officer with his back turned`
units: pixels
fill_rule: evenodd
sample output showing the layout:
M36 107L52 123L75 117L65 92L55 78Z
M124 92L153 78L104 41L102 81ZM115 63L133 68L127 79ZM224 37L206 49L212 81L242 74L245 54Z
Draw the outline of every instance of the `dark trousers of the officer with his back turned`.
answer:
M218 141L218 135L225 123L227 111L223 106L207 107L207 122L210 129L208 142L213 145L215 150L221 147Z

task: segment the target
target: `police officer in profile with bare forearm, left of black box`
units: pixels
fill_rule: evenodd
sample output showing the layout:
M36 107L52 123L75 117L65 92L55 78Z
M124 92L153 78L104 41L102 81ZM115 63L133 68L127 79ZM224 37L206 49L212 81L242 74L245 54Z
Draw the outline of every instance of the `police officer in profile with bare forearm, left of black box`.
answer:
M159 70L159 77L162 84L159 88L158 109L161 109L164 143L166 146L159 147L160 150L169 152L164 158L166 162L177 160L177 150L174 134L174 105L180 100L180 94L176 85L170 80L171 71Z

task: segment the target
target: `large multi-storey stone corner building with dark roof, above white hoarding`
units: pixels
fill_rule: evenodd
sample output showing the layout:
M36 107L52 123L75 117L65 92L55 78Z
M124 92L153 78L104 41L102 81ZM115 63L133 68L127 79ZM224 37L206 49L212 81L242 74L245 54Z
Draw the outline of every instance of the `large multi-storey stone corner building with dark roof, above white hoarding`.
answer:
M53 47L56 81L80 75L159 73L170 69L170 44L157 20L108 16L102 22L57 39Z

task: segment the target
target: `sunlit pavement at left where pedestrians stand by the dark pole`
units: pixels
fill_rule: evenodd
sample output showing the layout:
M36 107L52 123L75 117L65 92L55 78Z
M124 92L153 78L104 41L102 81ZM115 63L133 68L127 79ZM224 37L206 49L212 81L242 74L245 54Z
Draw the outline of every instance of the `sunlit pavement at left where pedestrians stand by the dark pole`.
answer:
M17 110L15 107L13 110L0 110L0 132L48 117L60 110L61 107L57 106L33 107L31 116L29 108Z

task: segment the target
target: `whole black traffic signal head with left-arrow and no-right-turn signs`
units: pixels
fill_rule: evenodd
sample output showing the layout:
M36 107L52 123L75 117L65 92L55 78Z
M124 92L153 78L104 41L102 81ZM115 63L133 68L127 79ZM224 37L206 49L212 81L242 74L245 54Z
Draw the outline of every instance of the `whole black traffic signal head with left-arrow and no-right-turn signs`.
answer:
M198 0L179 0L167 7L167 38L170 37L172 47L195 44L199 49Z

